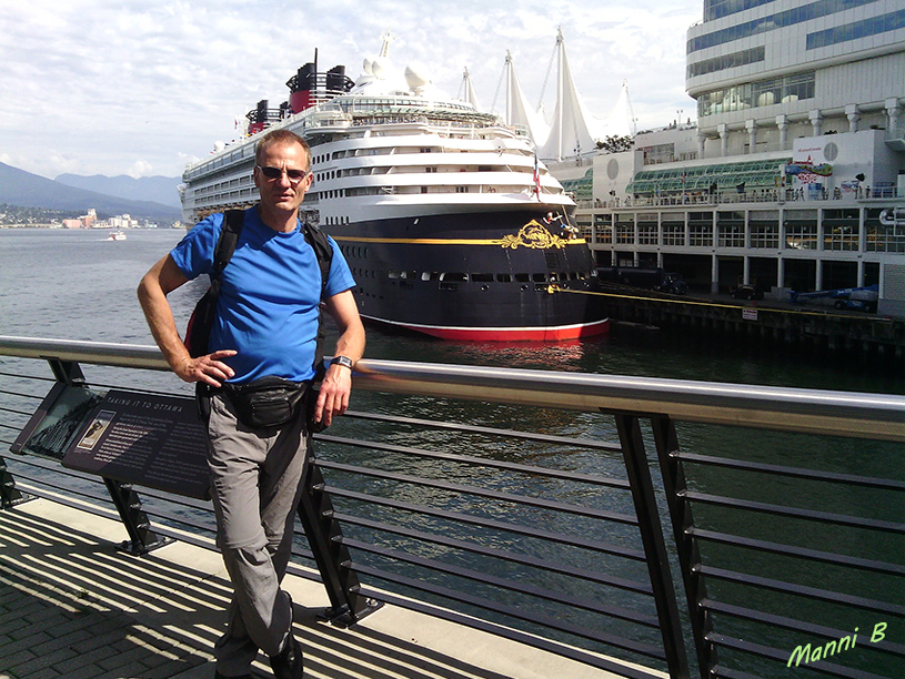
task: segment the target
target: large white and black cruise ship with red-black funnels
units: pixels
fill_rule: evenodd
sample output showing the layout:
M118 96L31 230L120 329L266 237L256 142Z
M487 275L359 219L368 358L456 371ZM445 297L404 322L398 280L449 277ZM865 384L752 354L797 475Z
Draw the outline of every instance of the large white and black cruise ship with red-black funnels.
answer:
M527 131L444 95L419 64L393 68L390 40L355 81L319 72L315 52L286 102L259 102L244 139L187 168L184 221L252 205L258 138L284 126L311 146L302 211L340 245L366 321L445 340L604 334L575 203Z

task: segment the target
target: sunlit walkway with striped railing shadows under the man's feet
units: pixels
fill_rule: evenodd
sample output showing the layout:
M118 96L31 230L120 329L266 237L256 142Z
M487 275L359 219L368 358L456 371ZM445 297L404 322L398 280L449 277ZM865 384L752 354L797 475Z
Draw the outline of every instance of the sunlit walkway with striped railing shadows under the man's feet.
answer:
M141 558L122 525L47 499L0 510L0 679L210 679L230 585L218 553L175 541ZM496 636L384 606L319 622L323 587L288 577L310 679L614 679ZM261 658L263 660L263 658ZM270 677L267 661L255 666Z

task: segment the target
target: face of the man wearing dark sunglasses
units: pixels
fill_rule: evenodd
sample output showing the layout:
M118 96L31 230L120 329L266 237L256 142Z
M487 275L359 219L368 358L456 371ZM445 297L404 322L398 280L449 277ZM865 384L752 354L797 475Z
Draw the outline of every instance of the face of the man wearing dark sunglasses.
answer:
M258 165L254 169L254 185L261 193L263 209L273 214L295 212L311 188L311 165L304 148L292 142L270 144ZM267 176L265 173L276 174L271 169L279 170L279 176ZM304 172L304 178L294 180L290 176L298 172Z

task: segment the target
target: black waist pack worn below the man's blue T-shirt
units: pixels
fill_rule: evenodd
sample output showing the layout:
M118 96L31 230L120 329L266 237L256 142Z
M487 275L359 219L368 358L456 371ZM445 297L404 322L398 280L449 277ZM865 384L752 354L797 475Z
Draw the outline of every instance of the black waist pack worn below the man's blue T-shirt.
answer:
M292 422L305 402L308 382L261 377L247 384L223 384L239 420L253 427L279 427Z

